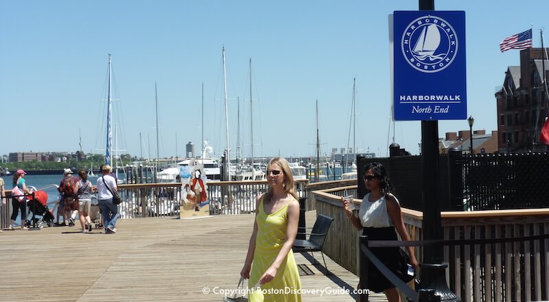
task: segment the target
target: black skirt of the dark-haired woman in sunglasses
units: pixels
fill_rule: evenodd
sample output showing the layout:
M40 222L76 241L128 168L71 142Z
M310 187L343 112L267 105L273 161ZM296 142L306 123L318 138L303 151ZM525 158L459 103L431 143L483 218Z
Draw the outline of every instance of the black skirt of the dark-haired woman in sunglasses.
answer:
M367 235L368 240L398 240L395 227L385 228L364 228L362 235ZM400 248L396 247L383 247L383 248L370 248L370 251L387 266L392 272L396 272L399 269L399 259L401 257ZM382 272L379 272L377 267L369 262L368 263L368 283L363 288L371 290L373 292L383 292L388 288L395 288L395 285L389 281Z

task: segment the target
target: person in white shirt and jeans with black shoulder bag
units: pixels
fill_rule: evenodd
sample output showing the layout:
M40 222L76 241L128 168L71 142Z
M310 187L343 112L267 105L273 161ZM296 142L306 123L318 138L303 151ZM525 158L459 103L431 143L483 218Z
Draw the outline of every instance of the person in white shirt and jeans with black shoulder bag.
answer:
M119 218L118 207L113 203L113 194L118 187L116 180L109 174L113 172L110 165L103 165L101 169L102 176L97 178L97 198L99 207L104 220L105 233L116 233L116 220Z

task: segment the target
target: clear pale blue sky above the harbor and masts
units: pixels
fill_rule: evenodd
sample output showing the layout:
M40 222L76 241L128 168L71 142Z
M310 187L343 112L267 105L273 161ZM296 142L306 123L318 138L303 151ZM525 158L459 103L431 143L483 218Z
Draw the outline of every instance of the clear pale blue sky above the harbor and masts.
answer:
M494 93L519 65L519 51L499 43L533 27L541 47L547 14L535 8L546 1L434 5L465 11L467 116L474 130L497 130ZM393 131L388 45L388 14L417 9L417 0L0 0L0 155L75 152L80 141L104 153L108 54L113 153L182 157L204 139L219 157L228 136L231 158L238 146L249 156L252 141L256 157L314 156L318 118L321 156L347 146L387 156L393 132L419 154L420 121ZM439 121L439 137L459 130L467 120Z

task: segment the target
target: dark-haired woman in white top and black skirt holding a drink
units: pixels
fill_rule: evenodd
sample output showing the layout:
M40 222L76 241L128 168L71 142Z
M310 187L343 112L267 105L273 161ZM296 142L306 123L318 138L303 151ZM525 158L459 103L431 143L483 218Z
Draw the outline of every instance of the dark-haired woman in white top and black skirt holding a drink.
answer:
M404 227L399 202L393 195L393 187L390 185L385 168L380 163L369 164L364 169L364 182L370 193L362 199L358 217L353 216L353 212L349 210L349 200L343 201L344 211L353 227L358 231L362 230L369 240L397 240L396 229L402 240L410 241L410 235ZM399 247L370 249L391 271L395 272L398 269L401 260ZM408 246L407 249L408 255L410 255L410 264L415 270L417 259L414 255L414 248ZM373 264L368 267L368 284L362 288L373 292L384 292L389 302L400 301L395 285L384 277Z

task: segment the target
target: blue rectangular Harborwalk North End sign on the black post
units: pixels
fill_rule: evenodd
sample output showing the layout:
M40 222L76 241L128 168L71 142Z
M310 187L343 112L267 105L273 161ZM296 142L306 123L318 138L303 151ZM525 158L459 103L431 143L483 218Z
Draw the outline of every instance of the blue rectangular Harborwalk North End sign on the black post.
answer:
M466 119L465 12L393 16L395 120Z

